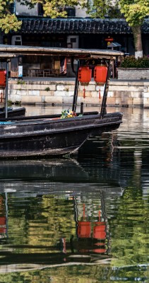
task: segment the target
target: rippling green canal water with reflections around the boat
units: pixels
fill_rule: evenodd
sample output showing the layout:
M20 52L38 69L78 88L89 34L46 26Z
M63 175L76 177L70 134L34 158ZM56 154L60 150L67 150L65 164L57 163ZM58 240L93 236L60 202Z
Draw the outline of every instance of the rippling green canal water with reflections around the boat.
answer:
M73 156L1 161L0 282L149 282L149 112L113 110Z

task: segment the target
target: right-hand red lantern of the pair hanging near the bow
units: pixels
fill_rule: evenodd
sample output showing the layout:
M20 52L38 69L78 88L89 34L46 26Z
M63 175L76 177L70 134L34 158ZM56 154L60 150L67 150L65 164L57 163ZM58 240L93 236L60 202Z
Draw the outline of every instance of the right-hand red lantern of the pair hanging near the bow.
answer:
M94 81L99 86L103 86L107 80L107 67L96 66L94 69Z

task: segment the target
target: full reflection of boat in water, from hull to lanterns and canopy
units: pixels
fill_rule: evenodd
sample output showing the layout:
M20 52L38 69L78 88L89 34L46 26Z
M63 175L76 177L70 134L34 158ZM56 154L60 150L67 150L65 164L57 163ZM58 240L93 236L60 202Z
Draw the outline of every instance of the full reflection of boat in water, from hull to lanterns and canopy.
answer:
M92 166L85 168L71 158L1 161L0 193L8 200L9 212L3 263L22 263L28 269L41 262L49 266L109 262L108 202L110 197L121 197L123 190L119 171L117 178L115 173L108 177L108 168L100 168L95 168L95 177ZM28 241L18 243L16 235L23 233ZM9 241L14 241L13 250Z

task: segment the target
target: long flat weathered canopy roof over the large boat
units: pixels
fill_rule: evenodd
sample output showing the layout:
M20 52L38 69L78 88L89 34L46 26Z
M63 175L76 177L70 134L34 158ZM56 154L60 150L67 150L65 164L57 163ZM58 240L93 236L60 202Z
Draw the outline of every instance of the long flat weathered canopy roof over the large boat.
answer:
M115 59L123 57L124 53L117 50L89 50L78 48L32 47L23 45L0 45L0 57L7 53L19 55L50 55L73 57L73 59Z

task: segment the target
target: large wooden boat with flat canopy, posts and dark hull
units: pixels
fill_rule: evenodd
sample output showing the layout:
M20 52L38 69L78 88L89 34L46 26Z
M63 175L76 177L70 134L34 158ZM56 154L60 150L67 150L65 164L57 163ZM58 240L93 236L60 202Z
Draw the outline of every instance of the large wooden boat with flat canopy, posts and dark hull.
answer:
M78 96L78 71L80 62L99 64L105 62L107 78L99 112L78 113L75 117L61 119L60 115L34 117L6 117L0 122L0 158L29 156L56 156L76 151L93 132L117 129L122 122L122 113L107 113L106 101L111 76L112 62L123 53L113 50L76 50L50 47L27 47L0 45L0 58L5 56L7 65L10 57L28 55L52 55L78 60L72 111L76 112ZM10 55L10 57L9 57ZM82 63L86 64L86 63ZM8 68L8 67L7 67ZM8 74L8 71L6 72ZM8 78L7 78L8 79ZM7 102L8 98L6 98ZM81 114L81 115L80 115Z

